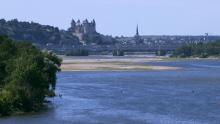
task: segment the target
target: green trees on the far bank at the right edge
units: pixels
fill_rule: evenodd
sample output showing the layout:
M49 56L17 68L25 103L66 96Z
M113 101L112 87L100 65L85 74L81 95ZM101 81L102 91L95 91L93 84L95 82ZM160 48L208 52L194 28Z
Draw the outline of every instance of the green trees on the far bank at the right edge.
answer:
M177 48L173 57L200 57L220 56L220 41L209 43L192 43Z

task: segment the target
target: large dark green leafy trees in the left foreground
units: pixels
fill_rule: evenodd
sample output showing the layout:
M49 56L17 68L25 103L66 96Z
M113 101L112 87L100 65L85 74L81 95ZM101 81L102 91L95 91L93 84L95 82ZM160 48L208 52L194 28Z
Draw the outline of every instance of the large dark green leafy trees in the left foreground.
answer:
M39 110L54 94L61 59L0 36L0 116Z

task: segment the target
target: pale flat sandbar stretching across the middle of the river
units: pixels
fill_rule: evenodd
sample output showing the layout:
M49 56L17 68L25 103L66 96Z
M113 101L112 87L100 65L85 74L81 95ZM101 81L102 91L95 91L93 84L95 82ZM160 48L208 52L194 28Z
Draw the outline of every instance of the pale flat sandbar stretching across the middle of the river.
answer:
M162 61L166 57L149 56L89 56L66 57L62 56L62 71L144 71L144 70L177 70L179 67L152 66L146 62Z

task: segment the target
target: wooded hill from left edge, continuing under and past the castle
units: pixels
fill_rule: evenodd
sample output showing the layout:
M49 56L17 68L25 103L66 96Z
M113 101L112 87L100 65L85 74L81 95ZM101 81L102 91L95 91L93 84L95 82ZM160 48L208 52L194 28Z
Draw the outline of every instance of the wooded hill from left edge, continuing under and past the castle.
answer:
M81 27L82 28L82 27ZM116 40L100 33L83 35L83 41L77 34L57 27L41 25L35 22L21 22L17 19L0 20L0 35L5 35L16 41L29 41L40 49L52 50L58 53L81 49L83 45L112 45Z

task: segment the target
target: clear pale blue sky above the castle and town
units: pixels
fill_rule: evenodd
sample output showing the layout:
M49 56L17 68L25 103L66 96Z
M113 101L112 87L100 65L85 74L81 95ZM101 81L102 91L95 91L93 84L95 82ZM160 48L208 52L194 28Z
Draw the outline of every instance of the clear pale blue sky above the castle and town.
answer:
M72 19L95 19L112 36L220 35L220 0L1 0L0 18L60 29Z

